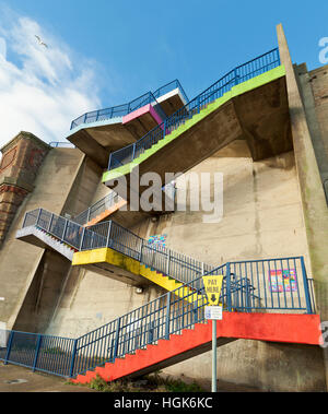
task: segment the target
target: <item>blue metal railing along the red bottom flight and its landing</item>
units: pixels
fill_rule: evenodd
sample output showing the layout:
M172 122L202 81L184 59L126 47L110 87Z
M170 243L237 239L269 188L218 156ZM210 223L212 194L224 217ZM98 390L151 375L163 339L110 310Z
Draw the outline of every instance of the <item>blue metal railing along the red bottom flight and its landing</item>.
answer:
M265 272L265 269L274 269L278 272L279 267L297 269L301 274L298 276L297 272L293 272L294 277L288 283L282 279L282 288L279 283L267 283L265 274L259 270ZM315 311L303 258L232 262L215 268L206 275L209 274L224 276L220 303L226 311ZM272 276L271 272L269 274ZM278 277L278 273L274 276ZM268 286L271 293L262 297ZM276 289L277 286L279 288ZM295 299L294 288L297 291ZM280 305L279 297L282 299ZM114 363L116 358L145 348L149 344L156 344L159 340L169 340L171 334L179 334L196 323L203 323L207 304L202 277L198 276L75 340L0 330L0 359L4 364L12 363L33 370L75 377L96 366Z

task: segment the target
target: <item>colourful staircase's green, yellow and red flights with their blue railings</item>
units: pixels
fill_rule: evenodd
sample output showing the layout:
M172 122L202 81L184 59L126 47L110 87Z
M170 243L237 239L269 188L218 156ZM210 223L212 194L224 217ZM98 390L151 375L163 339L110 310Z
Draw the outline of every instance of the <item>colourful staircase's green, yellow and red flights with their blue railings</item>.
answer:
M272 56L277 57L277 50ZM129 174L137 164L159 156L181 132L210 118L232 95L238 94L234 90L238 84L248 82L246 92L249 92L257 82L262 84L263 79L272 81L272 70L274 79L282 78L283 68L279 64L277 59L259 72L245 73L242 67L234 70L221 80L223 83L220 81L204 91L200 95L202 100L197 97L191 102L195 106L189 103L152 130L148 134L150 142L147 135L142 145L140 142L131 145L131 153L125 149L124 157L113 154L104 181ZM245 84L239 85L241 90L245 92ZM105 210L92 220L97 222L106 214ZM16 237L36 246L48 245L59 252L69 251L72 265L124 271L155 283L167 293L74 340L11 331L5 350L0 350L0 359L20 364L28 352L32 363L25 366L70 377L74 383L89 383L96 376L106 381L138 377L200 355L212 343L212 322L204 315L208 299L202 277L215 274L224 276L220 296L223 319L216 322L219 346L238 339L323 343L313 280L307 276L303 257L229 262L214 268L169 249L151 248L144 239L113 221L95 222L79 224L38 209L25 215ZM279 279L281 274L283 280ZM14 346L16 338L19 347ZM48 347L50 343L62 346L55 364L43 348L45 343ZM26 344L27 351L22 344Z

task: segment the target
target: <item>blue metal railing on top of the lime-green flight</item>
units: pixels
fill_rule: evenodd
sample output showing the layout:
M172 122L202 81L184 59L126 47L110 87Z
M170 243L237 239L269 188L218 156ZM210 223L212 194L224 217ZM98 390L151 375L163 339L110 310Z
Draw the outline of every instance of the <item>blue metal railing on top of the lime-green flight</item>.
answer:
M151 149L159 141L163 140L166 135L176 130L180 125L185 123L188 119L191 119L196 114L199 114L200 110L210 103L223 96L233 86L268 72L279 66L279 49L276 48L233 69L219 81L204 90L201 94L196 96L196 98L190 100L183 108L167 117L161 125L148 132L139 141L113 152L109 157L108 170L118 168L125 164L129 164L132 159L140 156L147 150Z

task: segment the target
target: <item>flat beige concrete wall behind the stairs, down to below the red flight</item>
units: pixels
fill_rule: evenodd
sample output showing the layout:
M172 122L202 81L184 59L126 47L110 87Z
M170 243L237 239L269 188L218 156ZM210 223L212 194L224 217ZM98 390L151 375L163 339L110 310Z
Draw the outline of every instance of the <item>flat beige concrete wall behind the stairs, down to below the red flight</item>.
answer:
M192 169L201 171L223 173L224 215L220 223L203 223L204 212L187 208L186 212L163 216L155 223L150 220L133 229L143 237L167 234L168 247L209 264L298 255L307 258L293 153L254 163L246 142L236 141ZM181 191L181 178L177 187ZM103 196L102 191L99 187L97 194ZM120 282L74 269L67 277L47 332L79 336L162 293L153 286L137 295L134 288ZM315 346L239 340L220 347L218 357L218 378L222 381L274 391L325 389L321 354ZM164 372L209 382L211 353Z

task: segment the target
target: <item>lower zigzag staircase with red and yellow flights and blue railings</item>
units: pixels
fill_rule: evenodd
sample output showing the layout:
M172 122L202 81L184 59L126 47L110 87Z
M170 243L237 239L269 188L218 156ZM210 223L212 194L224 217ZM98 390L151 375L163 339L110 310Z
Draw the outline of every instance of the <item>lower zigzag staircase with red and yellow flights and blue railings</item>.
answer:
M61 239L65 248L69 245L79 250L74 253L78 257L90 255L92 258L101 252L105 257L114 255L117 260L115 255L121 255L114 265L132 269L138 263L143 277L153 279L155 283L162 280L169 289L141 308L74 340L69 354L62 353L66 364L71 358L70 369L60 368L61 374L74 378L74 382L90 382L96 375L106 381L140 376L207 352L211 346L211 323L204 318L208 301L202 274L224 275L220 298L224 316L218 322L219 345L236 339L304 344L321 341L319 317L314 315L313 281L306 275L302 257L232 262L208 269L191 259L187 263L186 257L172 251L150 250L142 239L127 229L122 232L114 222L101 223L91 230L39 210L26 214L22 228L25 236L19 232L17 237L24 239L33 228L37 229L34 237L46 232L45 243L51 234L55 239ZM163 265L166 272L160 270ZM181 276L190 279L181 281ZM43 364L46 364L45 356Z

